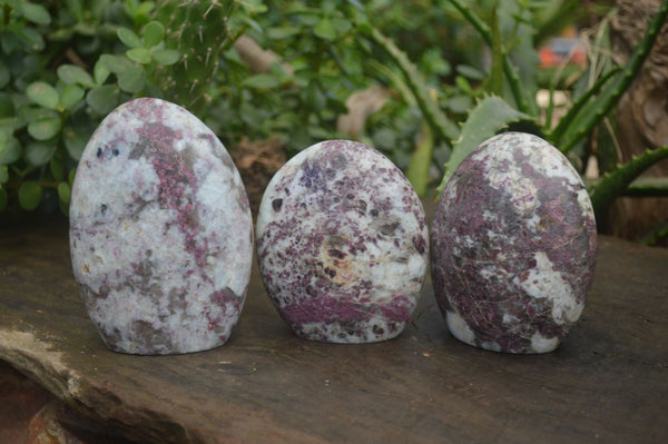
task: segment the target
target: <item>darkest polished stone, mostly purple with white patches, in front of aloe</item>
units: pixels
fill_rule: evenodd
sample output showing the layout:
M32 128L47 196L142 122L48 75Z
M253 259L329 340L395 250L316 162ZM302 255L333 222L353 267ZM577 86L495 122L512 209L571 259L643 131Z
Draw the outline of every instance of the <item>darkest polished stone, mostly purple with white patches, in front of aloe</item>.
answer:
M432 225L450 332L491 351L553 351L582 313L596 248L591 203L566 157L527 134L489 139L455 169Z

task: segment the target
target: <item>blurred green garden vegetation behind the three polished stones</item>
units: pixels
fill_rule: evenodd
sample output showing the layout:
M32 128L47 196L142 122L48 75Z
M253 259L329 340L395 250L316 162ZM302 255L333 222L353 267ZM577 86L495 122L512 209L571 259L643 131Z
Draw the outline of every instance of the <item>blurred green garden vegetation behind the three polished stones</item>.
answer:
M67 214L97 125L151 96L204 120L252 195L285 158L347 138L384 152L433 197L480 137L534 132L567 146L601 200L599 227L615 231L617 197L665 195L660 177L645 191L631 182L668 157L647 146L654 157L617 171L631 162L615 93L639 71L613 58L618 10L611 0L0 0L0 217ZM601 116L569 115L573 102ZM617 174L607 194L593 188L606 172ZM665 208L626 236L660 243Z

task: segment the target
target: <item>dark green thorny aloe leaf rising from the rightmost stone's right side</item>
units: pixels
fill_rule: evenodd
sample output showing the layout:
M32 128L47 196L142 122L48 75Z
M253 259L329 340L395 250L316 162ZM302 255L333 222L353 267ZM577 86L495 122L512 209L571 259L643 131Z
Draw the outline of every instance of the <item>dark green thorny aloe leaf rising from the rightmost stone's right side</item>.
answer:
M668 146L645 151L628 162L607 172L590 188L591 205L597 217L602 216L608 206L629 187L647 168L662 159L668 159Z

